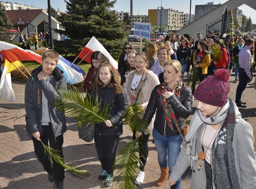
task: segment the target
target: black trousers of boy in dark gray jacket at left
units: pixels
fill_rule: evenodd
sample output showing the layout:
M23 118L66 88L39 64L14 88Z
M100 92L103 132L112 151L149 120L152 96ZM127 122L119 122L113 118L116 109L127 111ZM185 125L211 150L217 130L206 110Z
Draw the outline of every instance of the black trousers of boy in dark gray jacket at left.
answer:
M63 145L63 134L61 134L58 137L54 137L53 131L52 131L52 126L42 126L43 129L43 135L40 135L41 141L47 145L48 142L50 144L50 147L56 150L60 150L60 153L58 153L61 157L63 157L63 151L62 151L62 145ZM53 176L55 180L57 181L63 181L65 176L64 176L64 168L60 164L58 164L55 161L50 161L49 155L45 154L44 147L41 144L40 141L36 140L35 137L32 136L32 140L34 143L34 149L36 153L36 157L38 158L39 162L43 165L44 170L48 173L53 173Z

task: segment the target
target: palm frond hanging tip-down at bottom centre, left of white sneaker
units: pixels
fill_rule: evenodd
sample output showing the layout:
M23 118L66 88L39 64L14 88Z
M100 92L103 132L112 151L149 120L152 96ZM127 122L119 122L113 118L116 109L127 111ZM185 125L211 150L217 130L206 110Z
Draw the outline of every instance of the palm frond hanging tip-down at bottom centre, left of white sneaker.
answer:
M116 168L117 168L117 184L120 189L124 188L136 188L134 183L135 175L139 171L137 162L140 162L140 158L137 152L143 154L144 149L139 148L140 141L136 138L135 140L128 140L116 156Z

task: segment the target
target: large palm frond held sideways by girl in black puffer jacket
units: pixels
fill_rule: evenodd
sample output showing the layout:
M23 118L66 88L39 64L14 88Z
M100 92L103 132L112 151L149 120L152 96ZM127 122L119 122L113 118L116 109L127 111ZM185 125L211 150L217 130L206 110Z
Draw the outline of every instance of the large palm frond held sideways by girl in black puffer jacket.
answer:
M66 116L76 117L80 123L99 124L107 121L111 108L109 104L98 101L97 96L86 94L73 86L69 86L68 90L57 89L57 92L61 99L56 100L55 106L64 110Z

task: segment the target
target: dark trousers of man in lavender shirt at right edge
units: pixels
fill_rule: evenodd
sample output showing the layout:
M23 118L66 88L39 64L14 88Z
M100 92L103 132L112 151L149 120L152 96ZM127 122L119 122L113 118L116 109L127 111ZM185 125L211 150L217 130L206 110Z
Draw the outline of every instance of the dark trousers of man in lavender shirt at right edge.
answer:
M239 84L237 85L237 88L236 88L236 101L235 101L236 103L240 103L242 93L249 81L249 77L247 76L247 73L245 72L244 68L239 67L238 73L240 75L240 79L239 79Z

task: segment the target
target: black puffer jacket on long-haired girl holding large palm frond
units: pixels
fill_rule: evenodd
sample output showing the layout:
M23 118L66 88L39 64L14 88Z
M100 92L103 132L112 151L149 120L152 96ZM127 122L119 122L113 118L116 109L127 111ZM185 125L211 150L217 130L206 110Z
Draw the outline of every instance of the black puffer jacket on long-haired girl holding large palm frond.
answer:
M89 89L88 95L96 96L96 93ZM115 94L114 87L111 85L101 85L98 91L99 101L101 100L101 110L104 108L104 104L109 104L109 113L108 119L111 121L111 127L108 127L104 122L96 124L95 134L97 136L120 136L123 134L123 123L122 117L127 110L128 102L125 91L123 89L122 93Z

